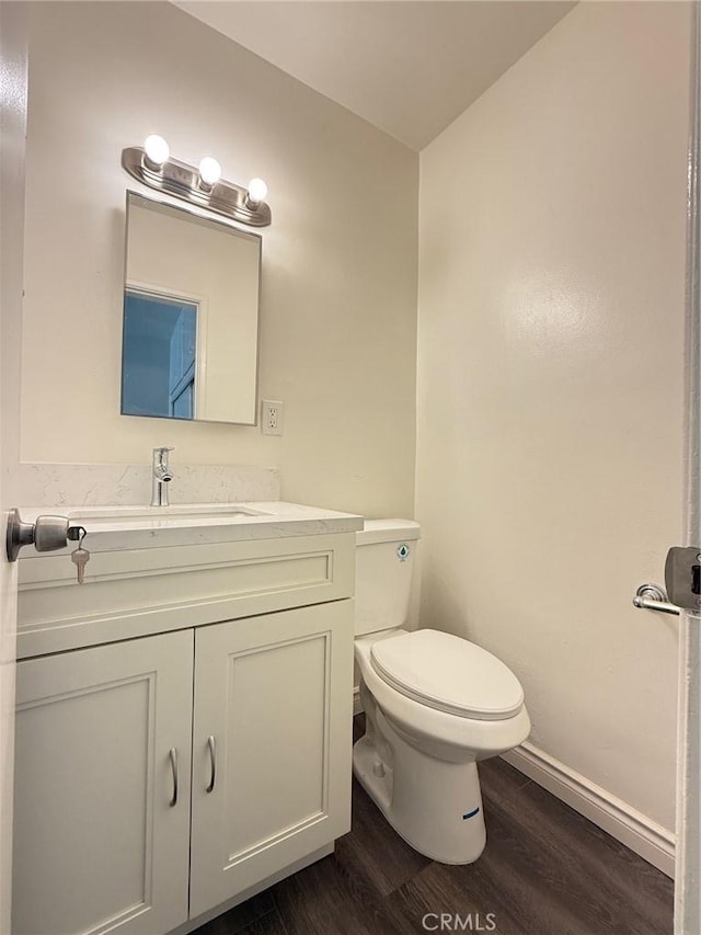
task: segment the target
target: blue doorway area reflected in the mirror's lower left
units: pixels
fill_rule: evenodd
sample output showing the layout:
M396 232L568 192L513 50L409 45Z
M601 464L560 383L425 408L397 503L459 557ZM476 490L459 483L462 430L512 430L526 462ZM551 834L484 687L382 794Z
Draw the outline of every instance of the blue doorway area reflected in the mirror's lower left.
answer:
M122 413L195 418L197 305L127 289Z

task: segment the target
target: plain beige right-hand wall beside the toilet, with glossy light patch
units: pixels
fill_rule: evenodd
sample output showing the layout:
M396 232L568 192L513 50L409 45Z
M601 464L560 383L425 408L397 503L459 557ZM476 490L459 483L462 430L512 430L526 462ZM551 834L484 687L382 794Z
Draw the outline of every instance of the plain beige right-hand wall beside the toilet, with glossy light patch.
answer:
M581 3L421 157L423 625L674 828L689 8Z

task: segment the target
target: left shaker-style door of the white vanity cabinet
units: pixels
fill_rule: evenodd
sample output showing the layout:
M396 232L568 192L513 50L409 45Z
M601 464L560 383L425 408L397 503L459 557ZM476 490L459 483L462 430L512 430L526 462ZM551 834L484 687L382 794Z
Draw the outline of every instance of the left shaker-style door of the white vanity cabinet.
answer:
M18 664L12 935L187 919L192 675L193 630Z

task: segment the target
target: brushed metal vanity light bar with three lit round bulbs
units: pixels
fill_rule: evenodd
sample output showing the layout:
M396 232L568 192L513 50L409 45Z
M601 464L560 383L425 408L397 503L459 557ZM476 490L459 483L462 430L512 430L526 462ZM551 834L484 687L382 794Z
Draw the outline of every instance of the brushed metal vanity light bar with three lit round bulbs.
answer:
M221 166L212 156L205 156L198 168L172 159L162 136L152 134L142 147L123 149L122 167L150 189L232 220L251 227L267 227L271 223L271 208L265 202L267 185L262 179L252 179L244 189L221 178Z

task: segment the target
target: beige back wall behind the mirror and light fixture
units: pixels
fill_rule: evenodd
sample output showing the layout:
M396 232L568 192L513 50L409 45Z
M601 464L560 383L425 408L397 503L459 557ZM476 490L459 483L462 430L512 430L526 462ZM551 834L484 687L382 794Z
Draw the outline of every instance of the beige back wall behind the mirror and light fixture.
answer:
M411 513L416 153L168 3L30 8L22 459L138 464L172 444L174 465L277 466L289 500ZM260 388L285 403L280 438L119 415L139 189L119 158L153 132L268 183Z

